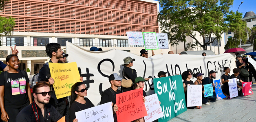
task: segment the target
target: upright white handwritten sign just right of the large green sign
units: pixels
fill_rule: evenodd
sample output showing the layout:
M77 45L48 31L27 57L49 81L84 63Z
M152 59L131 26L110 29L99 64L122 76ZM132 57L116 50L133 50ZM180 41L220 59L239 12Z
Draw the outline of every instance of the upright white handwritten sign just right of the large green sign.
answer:
M202 105L202 85L188 85L188 107Z

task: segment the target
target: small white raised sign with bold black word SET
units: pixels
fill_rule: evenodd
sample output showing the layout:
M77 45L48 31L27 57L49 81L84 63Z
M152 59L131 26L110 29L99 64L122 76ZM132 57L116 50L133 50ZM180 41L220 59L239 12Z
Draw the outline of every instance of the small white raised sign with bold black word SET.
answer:
M167 33L156 33L157 43L159 49L169 49L168 35Z

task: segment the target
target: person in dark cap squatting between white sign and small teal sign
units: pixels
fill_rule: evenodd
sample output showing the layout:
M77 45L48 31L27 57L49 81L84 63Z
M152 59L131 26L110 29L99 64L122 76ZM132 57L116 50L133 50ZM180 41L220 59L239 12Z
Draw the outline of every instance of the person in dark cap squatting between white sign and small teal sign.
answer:
M197 78L196 81L194 82L194 85L202 85L203 75L204 74L200 72L193 74L193 77ZM205 89L204 89L204 86L202 85L202 104L210 105L210 103L208 103L208 97L205 98L204 93L205 93Z

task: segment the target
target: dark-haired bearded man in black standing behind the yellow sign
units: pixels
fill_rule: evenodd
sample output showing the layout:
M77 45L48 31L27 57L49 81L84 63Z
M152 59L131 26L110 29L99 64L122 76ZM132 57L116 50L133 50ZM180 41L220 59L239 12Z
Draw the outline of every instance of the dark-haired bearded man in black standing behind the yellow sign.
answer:
M60 44L50 43L45 46L46 54L51 58L50 63L60 63L59 59L63 58L63 51L60 47ZM48 63L47 63L48 64ZM38 81L46 82L51 85L51 90L53 90L54 79L51 78L49 65L44 64L44 66L39 71ZM68 112L68 100L67 97L57 99L55 91L51 95L51 100L49 104L53 105L57 111L60 112L62 116L65 116L66 122L69 120Z

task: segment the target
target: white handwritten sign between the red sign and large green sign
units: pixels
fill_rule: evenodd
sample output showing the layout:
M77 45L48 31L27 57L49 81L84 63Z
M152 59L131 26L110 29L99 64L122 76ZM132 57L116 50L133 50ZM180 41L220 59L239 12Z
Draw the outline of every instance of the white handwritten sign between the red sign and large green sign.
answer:
M144 117L145 122L153 122L154 120L163 117L157 94L146 96L145 106L148 113L148 115Z

